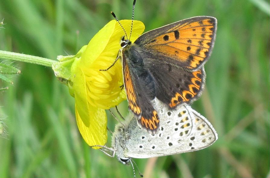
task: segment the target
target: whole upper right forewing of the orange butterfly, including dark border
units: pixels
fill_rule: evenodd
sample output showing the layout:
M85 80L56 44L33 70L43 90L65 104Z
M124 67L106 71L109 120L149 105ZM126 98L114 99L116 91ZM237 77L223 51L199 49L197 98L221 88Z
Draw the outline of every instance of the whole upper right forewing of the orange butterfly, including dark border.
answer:
M153 60L195 70L208 60L216 37L217 19L199 16L142 34L134 43Z

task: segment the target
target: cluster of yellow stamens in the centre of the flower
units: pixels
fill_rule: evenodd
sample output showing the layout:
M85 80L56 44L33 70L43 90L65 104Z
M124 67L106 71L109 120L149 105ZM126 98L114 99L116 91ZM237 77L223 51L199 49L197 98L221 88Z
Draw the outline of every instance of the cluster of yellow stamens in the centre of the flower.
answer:
M123 85L120 60L118 60L109 70L100 71L100 69L107 69L113 64L115 57L108 56L110 56L108 55L108 52L106 52L105 55L101 54L90 65L90 68L84 70L87 100L92 106L103 109L113 107L114 102L112 101L120 97L120 93L123 92L120 87Z

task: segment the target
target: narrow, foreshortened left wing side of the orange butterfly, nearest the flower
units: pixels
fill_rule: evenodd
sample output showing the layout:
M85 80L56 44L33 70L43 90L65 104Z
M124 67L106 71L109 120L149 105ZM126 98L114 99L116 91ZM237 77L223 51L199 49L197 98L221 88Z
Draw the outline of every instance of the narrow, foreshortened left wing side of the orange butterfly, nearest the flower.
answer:
M149 131L155 132L159 127L159 116L150 103L149 95L141 88L140 80L144 77L136 76L137 74L129 69L126 56L122 54L122 58L124 86L127 94L128 107L133 114L137 116L140 125ZM143 82L141 82L141 84L143 84Z

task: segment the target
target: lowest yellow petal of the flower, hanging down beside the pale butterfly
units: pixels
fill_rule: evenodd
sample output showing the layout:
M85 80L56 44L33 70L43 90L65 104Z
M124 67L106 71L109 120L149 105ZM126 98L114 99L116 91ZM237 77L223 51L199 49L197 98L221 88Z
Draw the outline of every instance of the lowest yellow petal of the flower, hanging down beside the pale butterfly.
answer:
M91 122L86 127L78 113L77 105L75 105L76 121L82 138L89 146L104 145L107 142L107 116L104 109L90 108L88 120ZM92 147L98 149L100 147Z

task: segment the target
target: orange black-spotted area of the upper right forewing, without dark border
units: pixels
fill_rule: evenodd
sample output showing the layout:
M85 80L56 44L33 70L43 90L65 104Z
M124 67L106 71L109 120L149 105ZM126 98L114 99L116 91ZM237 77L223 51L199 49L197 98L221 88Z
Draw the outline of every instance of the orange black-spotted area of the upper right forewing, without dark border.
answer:
M188 61L187 68L194 69L209 56L215 33L214 25L212 19L186 22L169 29L167 33L154 38L147 45L180 62Z

